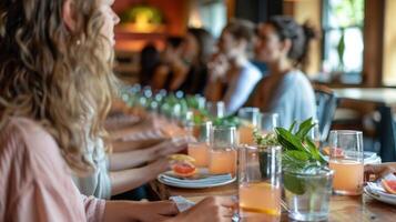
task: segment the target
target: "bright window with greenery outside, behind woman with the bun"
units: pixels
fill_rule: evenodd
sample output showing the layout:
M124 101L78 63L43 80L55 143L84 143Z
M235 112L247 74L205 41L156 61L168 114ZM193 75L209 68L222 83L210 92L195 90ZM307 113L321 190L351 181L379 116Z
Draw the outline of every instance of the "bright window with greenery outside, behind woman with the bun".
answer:
M364 0L323 2L323 71L343 83L361 83Z

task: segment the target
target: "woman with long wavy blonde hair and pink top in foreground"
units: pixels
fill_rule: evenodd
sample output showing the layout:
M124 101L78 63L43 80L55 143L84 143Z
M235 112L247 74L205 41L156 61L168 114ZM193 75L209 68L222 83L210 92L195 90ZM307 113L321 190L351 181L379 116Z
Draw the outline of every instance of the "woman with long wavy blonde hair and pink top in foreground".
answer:
M0 221L230 220L229 199L179 214L172 202L111 202L75 189L72 172L93 170L84 125L91 139L106 135L119 21L112 3L0 2Z

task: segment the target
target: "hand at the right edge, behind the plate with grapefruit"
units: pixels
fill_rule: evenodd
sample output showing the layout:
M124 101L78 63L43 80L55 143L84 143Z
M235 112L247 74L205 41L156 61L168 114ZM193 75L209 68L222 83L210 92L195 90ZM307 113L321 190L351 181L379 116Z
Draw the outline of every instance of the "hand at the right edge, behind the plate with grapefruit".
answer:
M373 181L389 173L396 173L396 162L367 164L364 167L365 181Z

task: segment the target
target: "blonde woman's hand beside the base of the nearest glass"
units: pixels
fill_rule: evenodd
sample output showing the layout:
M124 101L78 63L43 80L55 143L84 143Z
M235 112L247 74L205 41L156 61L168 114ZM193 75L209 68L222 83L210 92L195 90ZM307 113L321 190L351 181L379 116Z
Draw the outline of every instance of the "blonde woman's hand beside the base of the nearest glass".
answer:
M169 222L230 222L234 214L234 206L235 202L231 196L210 196Z

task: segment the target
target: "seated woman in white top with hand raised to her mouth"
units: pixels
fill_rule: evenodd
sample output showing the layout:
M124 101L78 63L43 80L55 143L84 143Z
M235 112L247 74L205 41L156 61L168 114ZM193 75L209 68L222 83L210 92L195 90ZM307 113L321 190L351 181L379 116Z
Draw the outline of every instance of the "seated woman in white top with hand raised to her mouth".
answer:
M253 39L253 23L232 20L223 29L219 53L210 63L205 97L210 101L224 101L226 113L236 112L246 102L262 77L248 61Z

